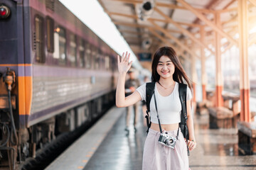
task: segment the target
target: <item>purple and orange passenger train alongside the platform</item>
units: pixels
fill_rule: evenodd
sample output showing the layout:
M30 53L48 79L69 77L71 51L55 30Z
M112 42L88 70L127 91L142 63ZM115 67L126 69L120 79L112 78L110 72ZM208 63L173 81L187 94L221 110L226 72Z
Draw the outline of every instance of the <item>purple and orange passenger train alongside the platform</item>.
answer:
M0 0L0 169L114 104L117 52L58 0Z

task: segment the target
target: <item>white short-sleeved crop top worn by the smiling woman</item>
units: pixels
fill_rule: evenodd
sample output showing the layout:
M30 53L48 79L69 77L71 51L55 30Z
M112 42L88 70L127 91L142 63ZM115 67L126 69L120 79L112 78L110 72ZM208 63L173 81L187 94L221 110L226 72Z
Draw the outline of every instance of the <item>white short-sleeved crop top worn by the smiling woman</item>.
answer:
M161 96L157 91L155 86L156 94L156 105L159 113L159 119L161 124L174 124L181 122L181 101L178 96L178 83L175 83L174 91L169 96ZM140 96L142 96L142 101L146 101L146 84L139 86L137 88ZM191 89L187 88L186 99L191 100L192 94ZM150 116L151 122L158 124L156 117L156 107L154 103L154 96L152 96L150 101Z

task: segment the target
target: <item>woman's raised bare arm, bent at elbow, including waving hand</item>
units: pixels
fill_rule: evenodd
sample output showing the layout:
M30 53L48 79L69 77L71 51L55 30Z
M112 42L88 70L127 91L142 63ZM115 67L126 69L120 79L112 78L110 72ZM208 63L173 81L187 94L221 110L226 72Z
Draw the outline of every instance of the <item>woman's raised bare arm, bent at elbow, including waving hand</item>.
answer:
M132 62L129 62L130 54L128 52L123 53L122 58L120 60L119 55L117 56L117 64L118 64L118 81L117 81L117 91L116 91L116 105L117 107L127 107L131 106L134 103L142 100L138 91L134 91L133 94L125 97L124 93L124 83L125 83L125 76L128 70L132 66Z

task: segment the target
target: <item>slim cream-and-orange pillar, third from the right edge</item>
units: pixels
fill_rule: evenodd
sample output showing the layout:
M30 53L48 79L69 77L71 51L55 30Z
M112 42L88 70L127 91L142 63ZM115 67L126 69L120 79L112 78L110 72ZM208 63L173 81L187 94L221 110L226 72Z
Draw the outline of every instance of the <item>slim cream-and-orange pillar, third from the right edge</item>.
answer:
M201 42L204 43L205 41L205 30L202 26L200 28L200 36L201 36ZM201 50L201 79L202 79L202 95L203 95L203 101L206 101L206 84L207 84L207 74L206 74L206 55L204 51L204 47L200 48Z

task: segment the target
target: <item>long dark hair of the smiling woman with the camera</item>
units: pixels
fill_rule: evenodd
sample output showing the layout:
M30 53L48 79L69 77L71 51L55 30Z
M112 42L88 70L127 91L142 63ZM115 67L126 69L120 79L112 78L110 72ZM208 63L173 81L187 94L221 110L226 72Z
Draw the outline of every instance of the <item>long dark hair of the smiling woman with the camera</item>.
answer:
M159 60L162 56L169 57L171 62L174 63L175 71L173 75L174 81L177 81L178 83L183 83L183 79L185 79L186 83L188 84L188 87L191 89L191 83L188 79L188 76L186 75L185 70L183 69L181 62L178 60L178 57L176 55L176 52L172 47L161 47L159 50L157 50L154 54L153 62L152 62L152 77L151 81L159 82L160 75L156 72L156 67L159 63Z

